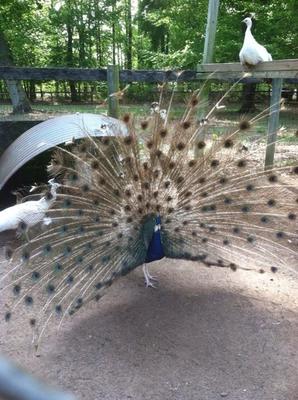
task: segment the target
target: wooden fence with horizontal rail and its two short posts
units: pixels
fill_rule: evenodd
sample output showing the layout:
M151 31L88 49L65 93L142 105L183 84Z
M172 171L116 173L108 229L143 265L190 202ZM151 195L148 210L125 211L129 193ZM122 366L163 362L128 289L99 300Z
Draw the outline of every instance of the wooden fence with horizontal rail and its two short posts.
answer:
M239 63L201 64L196 71L120 70L118 66L107 69L83 68L29 68L0 66L2 80L66 80L66 81L107 81L109 94L119 90L120 82L186 82L206 80L238 81L239 83L272 80L272 96L268 123L268 139L265 168L271 168L274 161L275 141L279 127L279 110L283 82L298 84L298 59L277 60L260 63L252 70L245 71ZM118 116L117 98L109 98L109 115Z

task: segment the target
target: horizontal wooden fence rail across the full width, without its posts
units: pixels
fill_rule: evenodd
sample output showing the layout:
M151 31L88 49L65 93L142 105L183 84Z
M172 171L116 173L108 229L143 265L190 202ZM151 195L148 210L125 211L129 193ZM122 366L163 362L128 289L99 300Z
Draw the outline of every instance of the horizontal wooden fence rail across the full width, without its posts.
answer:
M186 70L179 75L179 82L204 80L212 74L212 79L232 80L240 79L244 72L243 67L239 63L224 64L201 64L198 65L197 71ZM294 60L278 60L266 63L260 63L252 71L249 76L242 80L247 82L250 80L262 79L291 79L298 80L298 59ZM87 69L87 68L29 68L29 67L8 67L0 66L0 79L16 79L16 80L73 80L73 81L107 81L106 69ZM161 71L161 70L121 70L120 81L122 82L173 82L177 80L177 71Z

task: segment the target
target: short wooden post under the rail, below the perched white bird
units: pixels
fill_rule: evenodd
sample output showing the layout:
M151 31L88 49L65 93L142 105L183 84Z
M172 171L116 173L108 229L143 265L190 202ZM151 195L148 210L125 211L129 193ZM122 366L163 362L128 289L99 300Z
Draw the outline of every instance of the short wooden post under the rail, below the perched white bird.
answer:
M275 142L277 138L277 130L279 127L282 83L282 78L276 78L272 80L272 95L270 100L270 114L268 121L265 169L272 168L274 162Z

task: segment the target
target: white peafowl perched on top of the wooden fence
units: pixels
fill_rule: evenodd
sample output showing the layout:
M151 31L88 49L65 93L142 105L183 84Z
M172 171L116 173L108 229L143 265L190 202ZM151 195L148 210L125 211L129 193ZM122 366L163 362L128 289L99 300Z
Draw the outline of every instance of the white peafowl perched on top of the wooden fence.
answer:
M241 64L251 67L263 61L272 61L271 54L255 40L251 33L251 18L247 17L242 22L246 24L246 31L243 46L239 53Z

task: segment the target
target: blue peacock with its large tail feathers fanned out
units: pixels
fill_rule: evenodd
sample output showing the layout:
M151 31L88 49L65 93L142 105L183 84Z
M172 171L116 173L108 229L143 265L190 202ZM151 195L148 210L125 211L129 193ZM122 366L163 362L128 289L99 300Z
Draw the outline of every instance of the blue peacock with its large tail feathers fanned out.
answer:
M264 112L208 134L227 93L198 119L202 92L179 120L170 109L165 119L127 113L128 134L86 133L55 149L51 224L29 228L30 240L6 249L2 277L4 319L25 312L36 345L48 324L60 327L137 267L155 287L148 265L164 257L231 273L297 271L298 166L264 171L256 148L243 146Z

